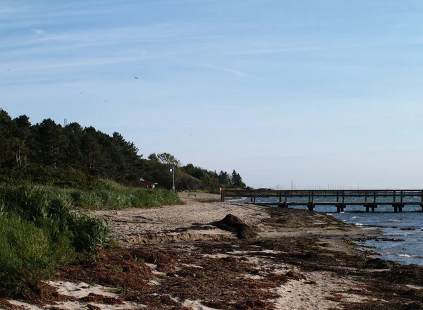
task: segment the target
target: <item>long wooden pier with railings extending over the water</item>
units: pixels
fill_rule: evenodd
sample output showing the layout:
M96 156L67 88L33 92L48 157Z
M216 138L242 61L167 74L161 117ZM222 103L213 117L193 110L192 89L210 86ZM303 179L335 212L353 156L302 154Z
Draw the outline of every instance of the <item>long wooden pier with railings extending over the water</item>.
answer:
M423 211L423 190L223 190L221 201L227 197L250 198L252 204L260 206L307 206L309 211L317 206L335 206L338 213L346 206L364 206L367 212L374 212L377 206L392 206L394 212L403 212L405 206L420 206ZM268 197L278 197L278 201L256 202L257 198Z

